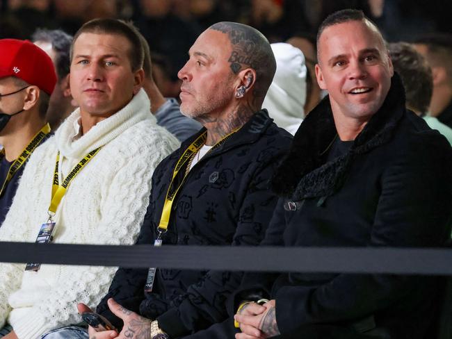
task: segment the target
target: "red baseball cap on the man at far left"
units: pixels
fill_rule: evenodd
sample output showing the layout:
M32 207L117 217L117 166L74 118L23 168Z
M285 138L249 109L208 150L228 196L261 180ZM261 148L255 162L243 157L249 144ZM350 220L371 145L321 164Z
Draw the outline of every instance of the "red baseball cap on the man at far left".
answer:
M29 40L0 39L0 78L6 76L21 78L49 95L56 84L51 58Z

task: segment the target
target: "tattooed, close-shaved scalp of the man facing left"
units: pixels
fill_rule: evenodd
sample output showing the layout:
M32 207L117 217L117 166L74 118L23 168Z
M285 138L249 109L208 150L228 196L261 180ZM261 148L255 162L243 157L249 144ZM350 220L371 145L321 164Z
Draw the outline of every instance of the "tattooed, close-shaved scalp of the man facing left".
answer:
M257 29L236 22L218 22L209 27L227 34L232 53L227 60L234 74L252 68L256 72L253 91L256 101L264 101L276 71L276 60L270 43Z

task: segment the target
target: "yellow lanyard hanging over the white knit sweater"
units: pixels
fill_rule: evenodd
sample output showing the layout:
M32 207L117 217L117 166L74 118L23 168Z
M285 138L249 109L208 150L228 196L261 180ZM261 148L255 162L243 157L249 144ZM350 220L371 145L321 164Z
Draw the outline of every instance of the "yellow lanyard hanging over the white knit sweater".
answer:
M66 179L63 181L63 183L60 185L59 183L59 172L58 172L58 165L60 162L60 152L56 154L56 163L55 163L55 172L54 172L54 183L51 187L51 202L49 206L49 215L55 215L56 209L58 208L58 205L61 202L61 199L63 199L63 196L66 193L67 188L69 187L72 180L75 178L77 174L83 169L83 167L86 166L90 162L92 158L97 154L97 152L100 150L100 147L97 149L94 149L90 151L90 153L86 154L86 156L83 157L79 161L77 165L72 169L70 174L67 174Z

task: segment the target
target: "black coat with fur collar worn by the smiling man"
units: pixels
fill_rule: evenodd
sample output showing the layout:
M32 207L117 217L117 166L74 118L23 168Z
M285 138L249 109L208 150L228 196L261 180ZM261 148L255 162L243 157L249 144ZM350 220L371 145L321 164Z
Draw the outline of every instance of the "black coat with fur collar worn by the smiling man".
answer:
M326 98L300 126L273 180L281 198L263 245L444 244L451 232L452 149L405 110L398 76L348 153L325 163L321 154L336 133ZM290 273L269 278L267 286L263 281L248 275L235 299L266 290L261 297L276 299L283 334L309 324L347 327L367 317L391 338L430 338L442 292L440 281L421 276Z

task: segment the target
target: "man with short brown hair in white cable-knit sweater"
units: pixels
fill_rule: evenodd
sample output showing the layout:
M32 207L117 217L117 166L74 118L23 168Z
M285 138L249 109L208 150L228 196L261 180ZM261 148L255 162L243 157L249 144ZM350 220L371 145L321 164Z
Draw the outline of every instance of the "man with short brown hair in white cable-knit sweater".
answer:
M156 125L141 89L143 52L138 36L114 19L84 24L72 44L70 87L80 108L36 149L24 170L1 241L34 242L49 219L59 153L59 184L89 152L100 147L74 176L58 204L54 242L132 245L149 204L152 173L179 147ZM99 303L115 267L0 264L0 327L3 338L40 338L80 322L77 302Z

